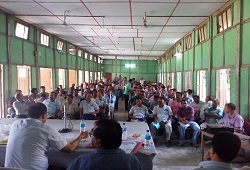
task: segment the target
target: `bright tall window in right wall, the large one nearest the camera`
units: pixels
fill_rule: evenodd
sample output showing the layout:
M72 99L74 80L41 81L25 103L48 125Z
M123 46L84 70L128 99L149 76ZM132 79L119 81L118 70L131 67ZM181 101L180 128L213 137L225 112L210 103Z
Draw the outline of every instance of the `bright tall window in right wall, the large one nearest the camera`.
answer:
M220 107L230 102L230 70L216 71L216 98L220 101Z

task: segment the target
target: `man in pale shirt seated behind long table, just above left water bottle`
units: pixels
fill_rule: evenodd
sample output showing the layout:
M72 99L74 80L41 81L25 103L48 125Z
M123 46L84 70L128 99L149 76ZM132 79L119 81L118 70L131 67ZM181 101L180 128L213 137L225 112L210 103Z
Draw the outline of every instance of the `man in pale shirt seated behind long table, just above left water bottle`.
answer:
M86 94L86 100L81 101L80 109L80 119L84 120L97 120L96 115L99 113L99 107L95 100L92 100L93 96L91 93Z

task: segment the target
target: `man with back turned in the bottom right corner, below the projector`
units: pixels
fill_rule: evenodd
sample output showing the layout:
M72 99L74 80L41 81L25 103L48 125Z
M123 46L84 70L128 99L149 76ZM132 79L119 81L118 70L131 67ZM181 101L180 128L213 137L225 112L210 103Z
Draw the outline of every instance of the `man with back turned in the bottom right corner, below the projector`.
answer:
M240 138L230 132L217 132L211 148L205 153L198 169L233 169L231 162L237 157L241 146Z

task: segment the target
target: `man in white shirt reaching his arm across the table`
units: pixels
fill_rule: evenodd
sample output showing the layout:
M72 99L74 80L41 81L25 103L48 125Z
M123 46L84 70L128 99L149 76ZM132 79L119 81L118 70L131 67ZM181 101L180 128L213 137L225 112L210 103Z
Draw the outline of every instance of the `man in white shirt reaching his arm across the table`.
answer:
M44 123L47 108L35 103L28 109L28 118L15 121L11 125L6 147L5 167L23 169L48 169L48 151L52 147L63 152L72 152L88 132L81 132L72 142L65 139L53 128Z

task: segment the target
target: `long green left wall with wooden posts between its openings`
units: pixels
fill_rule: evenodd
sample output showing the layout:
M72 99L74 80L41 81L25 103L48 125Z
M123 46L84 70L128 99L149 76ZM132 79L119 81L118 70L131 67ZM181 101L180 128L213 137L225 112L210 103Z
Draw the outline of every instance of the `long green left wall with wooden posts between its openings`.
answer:
M19 21L19 20L18 20ZM3 65L3 102L4 106L10 96L13 96L17 89L17 66L30 66L31 87L40 87L40 67L52 68L52 85L53 89L58 85L58 69L66 69L65 87L69 87L68 70L78 71L102 71L102 64L94 61L89 61L84 58L85 51L82 50L82 55L77 56L68 53L69 42L64 41L63 51L58 51L57 41L59 37L46 33L49 38L49 46L41 45L40 33L44 31L27 24L29 26L28 39L22 39L15 36L15 25L17 20L0 11L0 64ZM25 23L22 21L22 23ZM8 29L8 30L7 30ZM61 40L61 39L60 39ZM62 41L62 40L61 40ZM35 56L35 51L41 53L40 56ZM96 56L93 56L96 57ZM97 61L97 60L96 60ZM84 75L83 75L84 77ZM88 80L87 80L88 81ZM81 82L78 82L79 84Z

